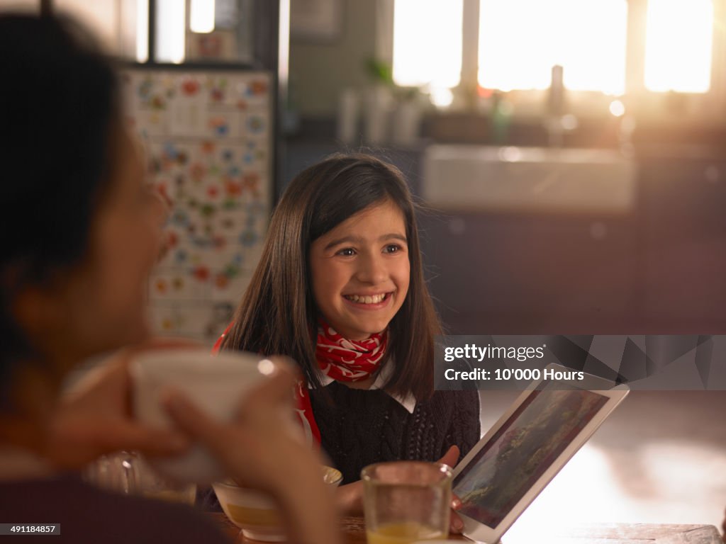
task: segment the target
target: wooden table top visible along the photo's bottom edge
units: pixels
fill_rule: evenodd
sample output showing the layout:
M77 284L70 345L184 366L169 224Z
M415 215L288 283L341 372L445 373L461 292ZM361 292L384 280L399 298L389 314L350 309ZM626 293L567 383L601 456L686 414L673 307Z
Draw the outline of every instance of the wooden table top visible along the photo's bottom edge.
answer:
M240 535L238 529L224 514L209 514L215 522L234 539L235 543L256 544L256 540L248 540ZM341 521L343 543L366 544L363 518L346 517ZM461 535L452 535L449 540L470 542ZM571 527L553 529L542 527L537 535L527 539L531 544L724 544L716 527L713 525L661 525L661 524L579 524ZM502 544L520 544L516 540L507 540L504 536ZM525 543L521 543L525 544Z

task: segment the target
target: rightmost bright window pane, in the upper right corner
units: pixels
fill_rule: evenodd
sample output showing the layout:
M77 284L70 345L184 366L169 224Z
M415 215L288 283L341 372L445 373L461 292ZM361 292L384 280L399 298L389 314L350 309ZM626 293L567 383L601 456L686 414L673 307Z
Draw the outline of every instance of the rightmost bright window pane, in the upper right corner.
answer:
M711 0L648 0L645 87L705 93L711 86Z

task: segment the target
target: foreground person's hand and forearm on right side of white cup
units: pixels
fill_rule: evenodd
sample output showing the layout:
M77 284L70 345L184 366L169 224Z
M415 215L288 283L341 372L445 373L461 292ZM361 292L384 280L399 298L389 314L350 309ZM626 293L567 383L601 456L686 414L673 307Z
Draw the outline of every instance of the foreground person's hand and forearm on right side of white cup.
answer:
M277 361L269 379L245 396L232 423L211 419L180 392L168 395L166 408L229 477L277 499L296 543L338 543L337 509L322 479L322 458L287 430L294 429L295 383L293 372Z

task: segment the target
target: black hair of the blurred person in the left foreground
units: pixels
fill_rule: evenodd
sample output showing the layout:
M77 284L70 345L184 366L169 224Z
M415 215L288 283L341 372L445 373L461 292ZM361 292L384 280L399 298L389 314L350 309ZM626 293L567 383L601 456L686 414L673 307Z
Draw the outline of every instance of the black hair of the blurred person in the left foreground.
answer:
M15 294L81 262L109 181L120 116L113 67L97 51L70 20L0 15L0 384L33 353Z

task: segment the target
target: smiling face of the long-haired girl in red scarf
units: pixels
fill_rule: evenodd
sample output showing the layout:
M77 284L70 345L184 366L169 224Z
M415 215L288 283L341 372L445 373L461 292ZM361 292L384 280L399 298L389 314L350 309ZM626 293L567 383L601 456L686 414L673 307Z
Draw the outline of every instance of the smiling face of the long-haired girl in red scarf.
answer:
M343 337L383 331L406 299L411 275L406 225L390 200L367 207L310 247L313 294Z

